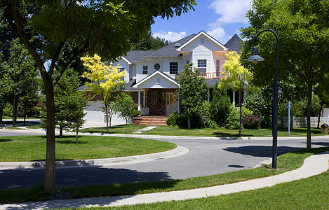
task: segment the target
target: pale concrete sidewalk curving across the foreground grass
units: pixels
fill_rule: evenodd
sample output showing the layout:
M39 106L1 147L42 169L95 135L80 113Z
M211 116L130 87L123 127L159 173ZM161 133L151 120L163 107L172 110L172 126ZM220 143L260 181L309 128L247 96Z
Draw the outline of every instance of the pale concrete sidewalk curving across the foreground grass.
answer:
M194 190L180 190L168 193L152 193L144 195L126 195L116 197L94 197L76 200L52 200L46 202L29 202L20 204L3 204L0 209L60 209L79 207L112 207L133 205L142 203L165 202L171 200L187 200L200 197L218 196L229 193L237 193L247 190L271 187L278 183L295 181L310 176L321 174L329 169L329 152L312 155L304 160L299 169L276 176L269 176L261 179L253 179L239 183L232 183L223 186L210 188L199 188Z

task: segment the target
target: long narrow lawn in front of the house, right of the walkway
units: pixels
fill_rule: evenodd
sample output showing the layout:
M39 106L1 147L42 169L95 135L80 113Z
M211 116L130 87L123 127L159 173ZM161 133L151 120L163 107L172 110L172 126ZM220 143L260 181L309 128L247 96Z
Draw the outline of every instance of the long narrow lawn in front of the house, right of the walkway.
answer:
M229 130L227 128L200 128L200 129L182 129L176 127L156 127L144 132L145 135L166 135L166 136L187 136L187 137L239 137L239 130ZM299 127L290 131L290 137L306 136L307 128ZM311 135L321 135L321 129L311 128ZM241 137L271 137L272 130L241 130ZM288 129L278 128L278 137L288 137Z

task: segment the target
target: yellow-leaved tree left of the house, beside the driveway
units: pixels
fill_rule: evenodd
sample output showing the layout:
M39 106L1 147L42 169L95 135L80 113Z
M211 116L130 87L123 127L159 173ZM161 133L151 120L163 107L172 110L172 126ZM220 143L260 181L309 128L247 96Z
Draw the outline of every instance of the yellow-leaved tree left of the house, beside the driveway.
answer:
M91 83L86 83L88 90L102 96L105 105L106 132L109 132L109 126L111 126L109 104L114 98L115 92L122 89L126 71L119 71L118 66L104 64L97 54L93 57L86 55L86 57L81 57L81 60L83 66L86 66L88 70L83 72L82 77L91 81Z

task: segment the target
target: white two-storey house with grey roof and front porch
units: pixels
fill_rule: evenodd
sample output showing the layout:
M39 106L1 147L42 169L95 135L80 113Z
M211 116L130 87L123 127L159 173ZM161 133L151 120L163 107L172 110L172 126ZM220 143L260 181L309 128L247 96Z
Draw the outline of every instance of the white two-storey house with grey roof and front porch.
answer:
M199 69L209 87L211 100L213 85L222 78L227 52L241 52L241 41L235 34L223 45L205 31L200 31L158 50L130 51L114 65L126 70L126 90L130 91L142 116L169 116L173 111L179 112L175 78L184 65L192 63ZM230 97L234 102L237 95L231 92ZM87 110L87 118L93 116L90 111Z

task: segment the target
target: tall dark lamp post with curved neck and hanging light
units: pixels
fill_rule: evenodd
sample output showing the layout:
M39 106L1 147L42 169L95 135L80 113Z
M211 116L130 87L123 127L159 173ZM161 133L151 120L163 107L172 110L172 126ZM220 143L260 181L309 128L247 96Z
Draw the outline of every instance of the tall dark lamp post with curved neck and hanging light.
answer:
M271 29L264 29L257 34L254 41L253 50L251 51L251 56L247 59L248 62L257 63L259 61L264 61L264 58L258 55L258 48L256 46L257 37L264 31L270 31L276 36L276 73L275 73L275 83L273 90L273 111L272 111L272 168L276 169L276 159L277 159L277 146L278 146L278 35Z

